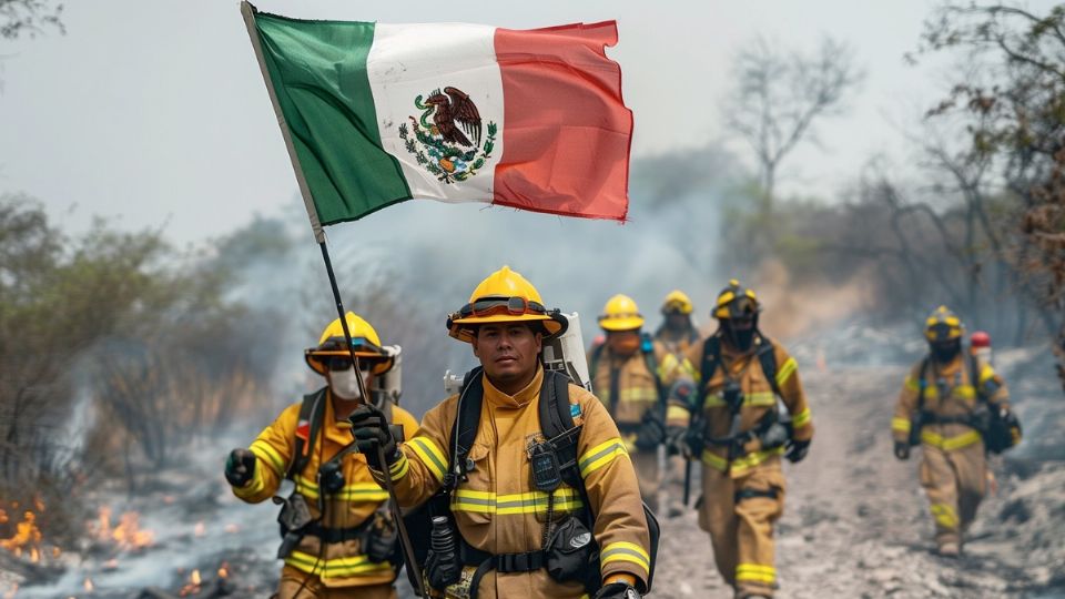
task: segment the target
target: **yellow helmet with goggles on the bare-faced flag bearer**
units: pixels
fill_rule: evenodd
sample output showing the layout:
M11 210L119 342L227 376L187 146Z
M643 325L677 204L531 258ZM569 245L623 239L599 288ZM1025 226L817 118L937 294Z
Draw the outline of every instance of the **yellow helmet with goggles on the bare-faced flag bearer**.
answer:
M567 321L557 309L544 307L540 292L520 273L504 266L488 275L469 296L469 303L447 317L447 334L471 343L475 325L539 322L547 336L566 331Z

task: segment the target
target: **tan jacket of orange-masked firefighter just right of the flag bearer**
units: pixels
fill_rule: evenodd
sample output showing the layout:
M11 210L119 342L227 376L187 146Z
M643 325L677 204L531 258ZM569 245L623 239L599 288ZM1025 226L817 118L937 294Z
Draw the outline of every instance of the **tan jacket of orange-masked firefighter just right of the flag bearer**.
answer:
M631 428L640 424L643 414L652 409L658 403L658 380L663 378L678 366L678 361L666 352L659 343L652 343L655 353L656 373L648 368L647 356L642 348L628 356L617 355L609 345L594 347L588 353L588 366L595 365L596 372L590 373L591 388L596 396L607 407L610 416L626 434L626 443L631 444ZM598 356L597 356L598 354ZM610 377L612 370L618 370L618 397L610 395ZM631 445L629 449L631 450Z

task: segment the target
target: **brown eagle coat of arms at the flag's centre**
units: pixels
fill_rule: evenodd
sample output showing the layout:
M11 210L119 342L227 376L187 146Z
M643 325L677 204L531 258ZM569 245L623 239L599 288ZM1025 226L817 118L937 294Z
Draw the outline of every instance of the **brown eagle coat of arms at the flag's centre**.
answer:
M469 94L458 88L434 90L423 101L414 99L414 106L423 111L399 125L399 139L414 160L444 183L466 181L477 174L491 158L495 148L496 123L488 121L483 136L480 113ZM432 116L432 121L429 118Z

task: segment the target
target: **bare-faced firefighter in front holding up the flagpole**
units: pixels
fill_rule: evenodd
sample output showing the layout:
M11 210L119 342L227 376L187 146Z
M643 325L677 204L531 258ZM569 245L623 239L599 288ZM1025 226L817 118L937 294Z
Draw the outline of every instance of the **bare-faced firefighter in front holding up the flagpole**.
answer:
M579 467L577 480L584 490L567 484L540 490L539 476L552 468L556 474L561 471L559 464L565 460L556 459L552 465L549 458L546 467L535 473L530 467L530 456L549 453L540 414L544 392L552 388L548 379L557 385L564 376L545 372L539 353L545 337L562 332L564 317L547 311L536 288L504 266L476 287L469 303L447 319L447 326L452 337L471 345L483 369L474 369L460 394L425 415L417 436L397 445L368 406L351 419L361 448L384 446L387 464L375 463L373 453L371 467L382 480L388 473L400 505L410 508L429 501L433 507L438 504L430 498L438 490L449 494L440 509L457 528L458 554L466 572L463 583L469 588L458 591L448 586L448 597L577 598L585 596L586 588L600 586L597 598L639 597L652 571L648 525L628 453L594 395L568 383L561 387L568 397L564 399L566 413L580 427L571 429L579 435L569 437L576 456L569 467L572 474ZM465 416L471 405L480 406L476 423ZM459 432L459 438L454 438L453 430ZM465 430L468 437L464 438ZM457 459L456 450L460 450ZM534 474L538 476L535 480ZM594 531L601 569L576 569L581 577L594 576L591 585L548 569L559 556L546 549L559 546L545 541L554 540L556 532L572 530L575 520L569 516L578 510L591 515L592 526L582 535L567 537L561 548L582 552L582 547L590 547ZM430 554L425 564L426 579L434 588L434 580L448 579L449 562L455 559L439 551L435 557Z

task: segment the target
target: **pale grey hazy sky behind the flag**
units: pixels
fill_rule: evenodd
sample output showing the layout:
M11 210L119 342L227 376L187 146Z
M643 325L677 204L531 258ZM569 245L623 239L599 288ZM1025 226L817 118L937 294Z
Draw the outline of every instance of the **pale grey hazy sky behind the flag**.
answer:
M916 47L934 2L413 2L261 0L302 18L459 21L525 29L617 19L633 156L720 139L717 105L739 44L757 34L810 49L849 42L868 78L848 116L824 123L784 174L785 193L832 199L873 154L905 161L897 130L940 97ZM1051 2L1032 2L1045 10ZM446 8L444 8L446 7ZM295 180L236 1L72 1L67 35L0 42L0 193L45 203L71 231L94 214L163 227L179 243L222 235L291 205ZM750 163L749 154L733 144ZM71 209L72 206L75 206ZM473 210L471 206L469 206ZM466 211L467 207L456 207ZM640 206L630 214L639 215ZM473 212L456 212L471 214ZM343 226L343 225L342 225Z

